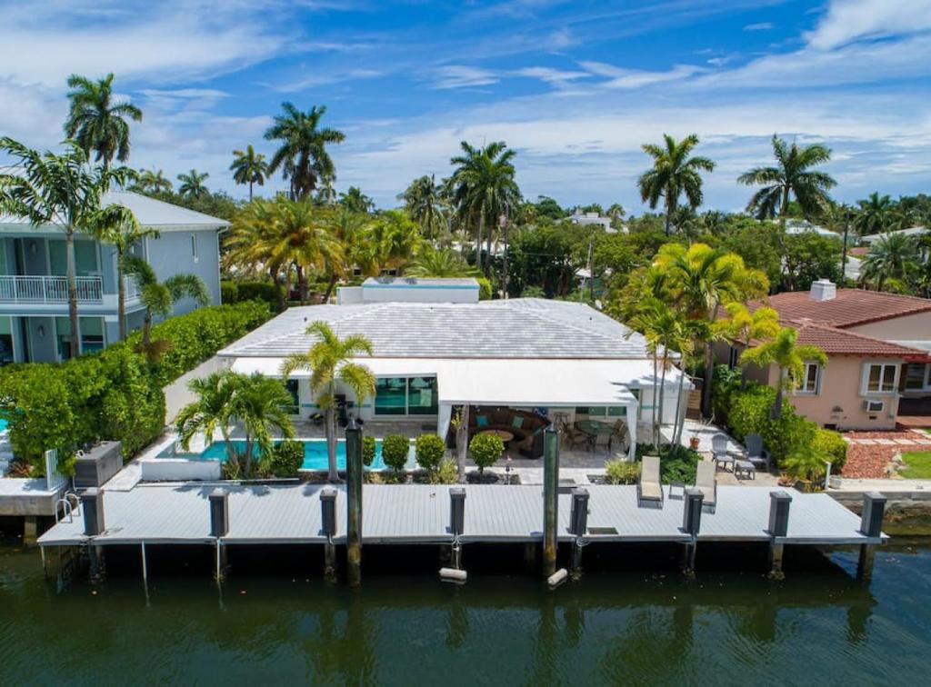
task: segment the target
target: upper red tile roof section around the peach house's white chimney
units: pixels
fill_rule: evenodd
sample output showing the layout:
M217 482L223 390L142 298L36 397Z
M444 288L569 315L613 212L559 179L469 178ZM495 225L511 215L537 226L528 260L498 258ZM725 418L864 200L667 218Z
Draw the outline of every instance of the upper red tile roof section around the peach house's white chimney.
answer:
M931 311L931 299L860 289L838 289L830 301L814 301L808 291L787 291L770 296L769 304L784 319L841 328Z

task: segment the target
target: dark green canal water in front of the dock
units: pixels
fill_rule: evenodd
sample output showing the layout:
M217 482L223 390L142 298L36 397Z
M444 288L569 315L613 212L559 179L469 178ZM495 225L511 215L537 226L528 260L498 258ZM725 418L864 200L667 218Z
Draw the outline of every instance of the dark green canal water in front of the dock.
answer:
M294 549L231 552L222 593L188 549L155 555L146 597L138 552L59 591L8 543L0 684L927 684L931 540L882 548L870 586L853 551L789 549L774 583L764 549L700 547L689 581L668 547L593 548L555 592L512 551L466 547L471 578L449 586L436 550L367 548L357 590Z

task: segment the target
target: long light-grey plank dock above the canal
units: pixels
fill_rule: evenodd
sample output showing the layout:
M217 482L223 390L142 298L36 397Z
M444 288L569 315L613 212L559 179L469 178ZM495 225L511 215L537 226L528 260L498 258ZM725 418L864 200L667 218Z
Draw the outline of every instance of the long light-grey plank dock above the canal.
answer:
M342 486L320 484L140 484L129 491L103 492L105 530L93 544L215 544L211 537L208 496L229 493L229 532L223 545L324 544L320 492L337 492L337 532L345 542L346 499ZM540 542L543 540L543 490L539 486L466 485L463 543ZM449 486L365 485L365 544L452 543ZM639 507L633 486L591 485L588 542L682 542L684 501L667 496L662 507ZM668 488L664 488L668 491ZM791 496L786 537L767 532L769 487L718 488L718 504L702 515L698 542L769 542L792 545L875 545L885 536L859 531L860 519L828 494L783 490ZM571 495L559 496L559 538L573 541L569 530ZM41 546L86 544L81 515L62 521L39 538ZM594 529L593 529L594 528ZM604 529L602 529L604 528ZM612 531L613 530L613 531ZM597 532L597 533L596 533Z

